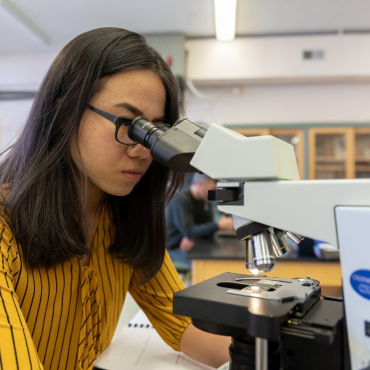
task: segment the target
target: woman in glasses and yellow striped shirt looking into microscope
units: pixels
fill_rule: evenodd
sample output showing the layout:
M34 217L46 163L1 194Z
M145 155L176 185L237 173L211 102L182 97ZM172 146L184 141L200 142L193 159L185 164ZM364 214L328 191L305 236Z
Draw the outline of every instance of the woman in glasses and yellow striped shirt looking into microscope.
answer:
M124 125L179 110L170 69L137 33L94 29L56 56L0 164L1 368L92 368L127 291L174 349L227 360L228 338L172 313L183 285L165 252L164 200L181 176Z

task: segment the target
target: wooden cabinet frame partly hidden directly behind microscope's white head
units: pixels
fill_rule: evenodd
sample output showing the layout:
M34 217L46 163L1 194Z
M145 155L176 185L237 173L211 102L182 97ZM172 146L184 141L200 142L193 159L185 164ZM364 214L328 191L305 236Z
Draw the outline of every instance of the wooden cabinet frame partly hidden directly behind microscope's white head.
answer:
M304 135L302 128L243 128L234 130L245 136L272 135L292 144L297 160L299 177L304 178Z

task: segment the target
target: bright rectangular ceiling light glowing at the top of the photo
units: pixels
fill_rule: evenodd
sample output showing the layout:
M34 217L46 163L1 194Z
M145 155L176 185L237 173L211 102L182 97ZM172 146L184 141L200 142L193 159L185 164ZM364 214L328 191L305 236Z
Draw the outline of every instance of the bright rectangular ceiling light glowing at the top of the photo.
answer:
M214 0L216 38L231 41L235 37L236 0Z

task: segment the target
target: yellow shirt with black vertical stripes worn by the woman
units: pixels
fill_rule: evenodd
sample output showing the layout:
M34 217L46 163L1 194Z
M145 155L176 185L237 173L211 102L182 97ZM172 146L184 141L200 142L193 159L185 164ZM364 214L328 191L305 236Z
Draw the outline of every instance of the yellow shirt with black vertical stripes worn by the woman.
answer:
M0 368L91 369L113 336L127 291L179 350L190 320L172 313L172 298L183 283L166 253L159 272L137 285L137 271L107 252L114 226L106 203L86 267L71 258L51 268L26 268L0 220Z

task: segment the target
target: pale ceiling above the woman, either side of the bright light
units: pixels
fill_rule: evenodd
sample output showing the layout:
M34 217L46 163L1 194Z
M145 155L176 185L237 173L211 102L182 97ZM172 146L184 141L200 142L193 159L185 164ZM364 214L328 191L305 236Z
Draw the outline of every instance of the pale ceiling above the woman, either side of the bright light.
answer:
M0 0L0 54L60 48L119 26L143 34L214 37L213 0ZM238 0L236 35L370 32L370 0Z

